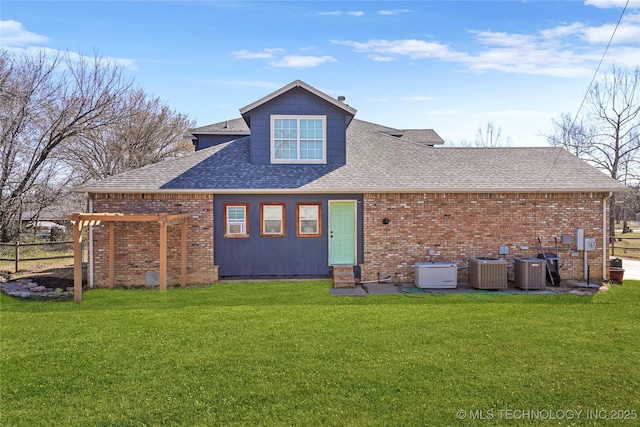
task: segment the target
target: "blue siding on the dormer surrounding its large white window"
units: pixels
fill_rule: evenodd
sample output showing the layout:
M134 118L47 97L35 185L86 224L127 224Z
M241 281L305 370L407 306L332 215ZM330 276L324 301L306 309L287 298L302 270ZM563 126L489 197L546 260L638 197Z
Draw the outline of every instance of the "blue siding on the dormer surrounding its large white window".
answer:
M348 118L344 110L327 103L302 88L294 88L248 113L251 123L251 163L270 162L272 114L323 115L327 117L327 164L346 163Z

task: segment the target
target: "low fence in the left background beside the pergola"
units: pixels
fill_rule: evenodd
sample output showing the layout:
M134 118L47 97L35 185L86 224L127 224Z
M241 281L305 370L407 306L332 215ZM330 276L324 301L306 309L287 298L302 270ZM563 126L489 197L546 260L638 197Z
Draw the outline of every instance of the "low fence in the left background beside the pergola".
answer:
M20 262L44 261L73 258L73 241L45 243L0 243L0 261L15 263L15 271L20 270Z

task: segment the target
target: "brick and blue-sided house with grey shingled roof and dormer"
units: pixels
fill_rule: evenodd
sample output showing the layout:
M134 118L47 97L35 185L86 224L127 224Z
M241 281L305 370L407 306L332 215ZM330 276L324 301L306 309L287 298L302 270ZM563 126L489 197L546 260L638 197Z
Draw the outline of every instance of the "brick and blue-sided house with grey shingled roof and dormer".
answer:
M355 115L297 80L239 118L193 129L193 154L78 190L94 215L83 217L91 284L148 284L159 270L169 284L339 270L336 286L380 274L412 282L430 249L466 265L535 257L538 239L548 249L570 235L557 248L568 258L578 229L597 250L562 274L606 277L609 197L625 189L615 180L562 148L446 148L431 129Z

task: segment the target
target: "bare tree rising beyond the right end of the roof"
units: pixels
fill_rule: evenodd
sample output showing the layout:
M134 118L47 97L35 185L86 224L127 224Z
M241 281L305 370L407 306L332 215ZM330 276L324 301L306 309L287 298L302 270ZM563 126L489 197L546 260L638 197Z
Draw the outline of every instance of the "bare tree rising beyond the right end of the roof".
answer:
M585 102L583 121L569 115L554 121L547 140L562 146L605 171L621 183L637 185L640 166L640 68L613 66L611 72L594 84ZM627 201L614 195L611 217L622 219L627 228ZM614 223L610 224L614 235Z

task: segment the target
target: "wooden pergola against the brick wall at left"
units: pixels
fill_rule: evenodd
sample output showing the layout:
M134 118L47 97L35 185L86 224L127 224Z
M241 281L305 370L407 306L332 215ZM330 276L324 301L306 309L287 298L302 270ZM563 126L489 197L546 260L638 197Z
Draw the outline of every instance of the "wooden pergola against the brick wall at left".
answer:
M187 285L187 218L190 214L74 213L67 215L73 222L73 295L76 303L82 302L82 229L86 225L109 224L108 287L115 282L115 223L156 222L160 226L160 290L167 289L167 227L181 226L180 233L180 286Z

